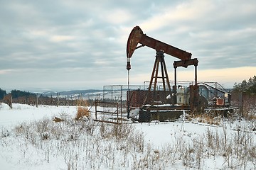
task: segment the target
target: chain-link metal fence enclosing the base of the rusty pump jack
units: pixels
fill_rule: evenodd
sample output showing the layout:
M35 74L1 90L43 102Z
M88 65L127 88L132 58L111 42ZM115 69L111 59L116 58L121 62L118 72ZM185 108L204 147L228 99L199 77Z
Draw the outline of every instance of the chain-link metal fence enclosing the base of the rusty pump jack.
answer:
M176 118L182 114L182 111L189 110L189 98L186 106L176 106L176 101L174 100L176 98L173 96L174 81L170 81L171 89L166 91L164 91L161 84L159 81L155 91L148 89L149 81L144 81L143 85L104 86L102 100L109 103L118 103L119 113L122 113L123 116L129 117L131 114L139 114L143 121L159 120L161 117L163 120L172 119L171 115L174 115L173 117ZM195 84L194 81L177 81L177 86L188 87L193 84ZM216 82L198 82L198 84L200 84L198 92L206 98L208 104L213 105L214 103L210 103L210 101L213 98L217 98L217 96L224 98L225 89L220 84ZM168 97L169 95L170 97ZM225 102L230 103L230 98ZM112 109L113 107L109 103L108 105L105 104L103 108Z

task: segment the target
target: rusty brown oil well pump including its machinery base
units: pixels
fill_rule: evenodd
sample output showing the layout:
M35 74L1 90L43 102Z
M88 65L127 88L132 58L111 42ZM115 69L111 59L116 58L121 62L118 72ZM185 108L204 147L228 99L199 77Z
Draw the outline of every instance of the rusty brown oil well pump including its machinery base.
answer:
M128 70L128 86L129 86L129 70L131 69L131 58L134 51L140 47L150 47L156 50L156 59L149 81L149 87L145 91L127 91L127 117L131 117L132 100L137 98L141 103L137 104L139 111L139 121L151 120L167 120L178 118L184 109L190 111L200 111L206 106L206 98L200 96L199 86L197 82L197 66L198 60L191 58L192 54L172 45L166 44L143 33L139 26L135 26L129 34L127 40L127 70ZM176 57L178 60L174 62L174 86L171 86L164 54ZM178 67L195 67L195 84L191 84L186 90L177 86L176 69ZM157 83L161 83L161 90L156 87ZM188 94L184 98L182 94ZM138 100L139 98L139 100Z

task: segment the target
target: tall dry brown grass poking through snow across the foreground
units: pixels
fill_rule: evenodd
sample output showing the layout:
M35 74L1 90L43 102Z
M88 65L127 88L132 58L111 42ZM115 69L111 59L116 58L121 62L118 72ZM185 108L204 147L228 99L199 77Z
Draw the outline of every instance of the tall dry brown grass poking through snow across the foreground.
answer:
M203 135L179 130L177 126L169 136L171 143L154 147L133 124L68 120L54 123L43 118L24 122L14 132L0 127L0 149L14 148L18 141L20 162L26 164L36 149L44 162L62 158L60 169L171 169L181 163L181 169L205 169L206 161L213 160L215 164L221 160L217 158L223 159L222 169L256 168L255 134L248 132L255 126L253 121L238 123L234 130L228 123L222 128L209 127ZM29 164L36 162L31 159Z

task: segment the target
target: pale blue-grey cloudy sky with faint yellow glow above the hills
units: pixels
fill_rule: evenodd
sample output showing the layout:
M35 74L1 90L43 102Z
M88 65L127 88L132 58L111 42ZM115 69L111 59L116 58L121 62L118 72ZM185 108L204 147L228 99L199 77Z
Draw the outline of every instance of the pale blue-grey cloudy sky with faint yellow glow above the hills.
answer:
M256 74L256 1L0 0L0 88L102 89L127 84L134 26L198 58L198 81L226 87ZM130 84L149 81L155 50L132 56ZM175 57L165 55L169 79ZM193 81L193 67L178 80Z

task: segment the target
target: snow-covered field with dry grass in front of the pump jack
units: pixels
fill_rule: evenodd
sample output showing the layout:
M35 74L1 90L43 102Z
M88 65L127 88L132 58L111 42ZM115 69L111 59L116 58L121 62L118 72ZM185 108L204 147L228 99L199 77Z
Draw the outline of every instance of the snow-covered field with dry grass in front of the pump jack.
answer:
M114 125L75 121L75 106L13 107L0 103L3 170L256 169L255 120Z

